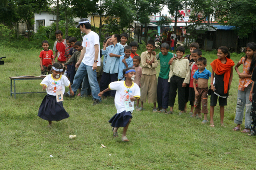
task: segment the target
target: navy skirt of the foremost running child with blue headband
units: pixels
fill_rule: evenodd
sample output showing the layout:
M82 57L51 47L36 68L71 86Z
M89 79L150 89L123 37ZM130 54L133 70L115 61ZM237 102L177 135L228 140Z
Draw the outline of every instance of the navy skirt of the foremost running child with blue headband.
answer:
M108 122L115 128L125 127L131 118L131 112L123 111L121 113L116 113Z

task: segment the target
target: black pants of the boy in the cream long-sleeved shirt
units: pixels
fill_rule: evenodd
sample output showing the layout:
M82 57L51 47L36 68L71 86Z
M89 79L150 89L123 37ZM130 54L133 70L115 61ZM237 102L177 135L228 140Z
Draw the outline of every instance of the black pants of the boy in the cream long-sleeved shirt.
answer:
M185 87L182 87L184 78L173 76L170 80L170 94L169 94L169 106L173 107L175 103L175 98L177 95L178 89L178 101L179 101L179 110L183 111L185 109Z

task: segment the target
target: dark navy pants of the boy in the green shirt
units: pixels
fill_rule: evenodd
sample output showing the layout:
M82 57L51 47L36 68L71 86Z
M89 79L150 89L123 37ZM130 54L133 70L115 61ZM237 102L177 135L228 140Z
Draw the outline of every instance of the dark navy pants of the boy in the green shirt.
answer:
M168 108L168 100L170 93L170 83L168 83L168 79L163 79L158 77L158 108L167 109Z

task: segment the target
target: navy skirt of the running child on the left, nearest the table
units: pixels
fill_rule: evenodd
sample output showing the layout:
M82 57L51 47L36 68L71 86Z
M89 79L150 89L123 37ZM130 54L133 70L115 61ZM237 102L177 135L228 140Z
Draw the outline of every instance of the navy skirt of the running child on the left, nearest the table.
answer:
M41 103L38 116L44 120L54 121L69 117L68 112L63 107L62 102L57 102L56 96L47 94Z

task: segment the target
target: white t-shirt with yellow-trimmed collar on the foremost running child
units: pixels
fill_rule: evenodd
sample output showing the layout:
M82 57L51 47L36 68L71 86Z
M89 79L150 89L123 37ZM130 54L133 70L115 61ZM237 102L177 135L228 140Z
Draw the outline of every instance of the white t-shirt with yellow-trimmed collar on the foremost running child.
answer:
M124 100L127 98L127 96L138 97L137 99L139 99L141 97L140 87L138 87L138 85L133 82L132 82L131 87L127 87L125 85L124 80L112 82L108 85L108 87L111 90L116 90L115 107L117 109L117 113L121 113L121 112L125 111ZM129 93L128 93L128 90L129 90ZM131 102L131 103L132 103L132 106L134 106L134 102Z

